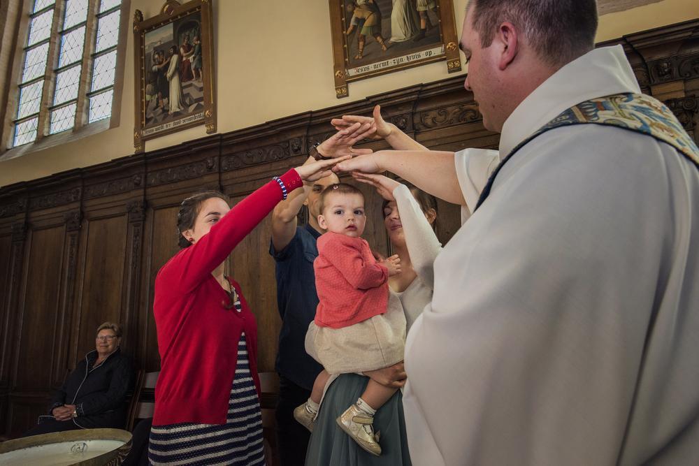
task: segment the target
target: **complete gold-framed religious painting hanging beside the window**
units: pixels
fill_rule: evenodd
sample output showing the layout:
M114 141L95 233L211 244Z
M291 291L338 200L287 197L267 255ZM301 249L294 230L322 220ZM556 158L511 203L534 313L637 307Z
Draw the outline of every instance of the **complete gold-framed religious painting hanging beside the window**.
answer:
M145 140L192 126L216 132L213 44L210 0L168 0L147 20L136 10L136 152Z

